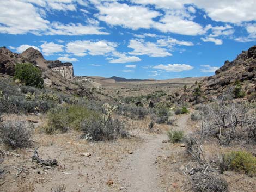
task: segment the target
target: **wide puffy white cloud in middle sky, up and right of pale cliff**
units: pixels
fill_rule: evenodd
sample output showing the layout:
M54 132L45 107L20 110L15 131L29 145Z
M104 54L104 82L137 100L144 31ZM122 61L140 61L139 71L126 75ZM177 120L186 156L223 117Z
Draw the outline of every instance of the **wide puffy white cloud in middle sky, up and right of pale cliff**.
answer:
M107 55L115 51L117 44L109 41L74 41L66 44L66 52L76 56L84 55Z

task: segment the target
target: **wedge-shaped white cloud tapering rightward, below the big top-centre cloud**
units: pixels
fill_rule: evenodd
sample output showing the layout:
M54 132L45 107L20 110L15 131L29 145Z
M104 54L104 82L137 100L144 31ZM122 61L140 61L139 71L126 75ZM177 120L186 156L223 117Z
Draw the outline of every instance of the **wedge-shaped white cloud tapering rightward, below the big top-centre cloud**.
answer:
M166 57L172 56L166 49L159 47L159 45L153 42L145 42L144 40L130 40L129 48L133 51L129 52L132 55L148 55L150 57Z

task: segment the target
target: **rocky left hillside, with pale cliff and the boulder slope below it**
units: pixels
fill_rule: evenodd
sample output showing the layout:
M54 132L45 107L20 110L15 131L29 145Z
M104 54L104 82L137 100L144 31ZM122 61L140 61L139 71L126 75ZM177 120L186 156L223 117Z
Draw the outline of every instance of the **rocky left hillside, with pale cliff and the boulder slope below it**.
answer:
M81 96L88 95L85 88L72 83L71 79L74 78L74 72L71 63L62 63L59 60L48 61L41 52L32 47L21 54L13 53L6 47L0 48L0 73L3 76L13 76L15 65L26 62L32 63L41 69L45 86Z

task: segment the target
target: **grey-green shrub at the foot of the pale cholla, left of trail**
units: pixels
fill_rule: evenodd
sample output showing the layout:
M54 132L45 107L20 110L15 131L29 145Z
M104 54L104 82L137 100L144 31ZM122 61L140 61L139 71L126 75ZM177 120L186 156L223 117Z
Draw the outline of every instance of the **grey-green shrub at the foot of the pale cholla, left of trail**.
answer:
M113 140L118 137L125 138L128 135L123 122L117 119L104 121L101 118L93 117L84 120L81 127L84 132L82 138L93 141Z

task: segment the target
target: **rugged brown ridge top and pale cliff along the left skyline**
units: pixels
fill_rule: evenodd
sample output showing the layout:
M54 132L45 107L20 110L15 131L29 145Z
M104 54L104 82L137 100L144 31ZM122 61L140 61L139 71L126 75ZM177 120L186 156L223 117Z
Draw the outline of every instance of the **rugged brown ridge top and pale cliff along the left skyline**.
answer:
M73 65L71 63L62 63L59 60L47 61L41 52L32 47L21 54L13 53L5 47L0 48L0 73L13 76L15 64L25 62L32 63L43 71L51 69L68 80L74 78Z

